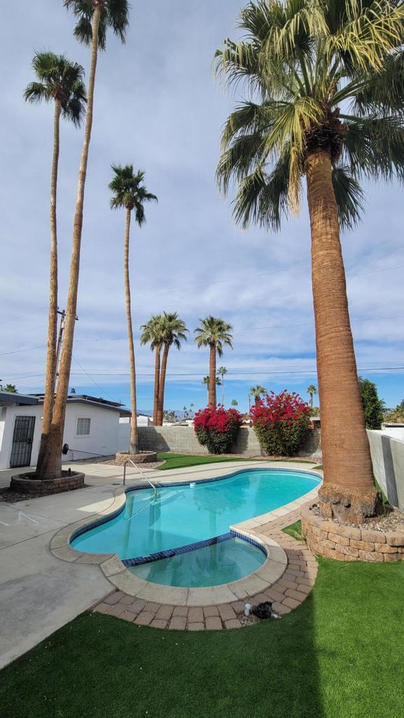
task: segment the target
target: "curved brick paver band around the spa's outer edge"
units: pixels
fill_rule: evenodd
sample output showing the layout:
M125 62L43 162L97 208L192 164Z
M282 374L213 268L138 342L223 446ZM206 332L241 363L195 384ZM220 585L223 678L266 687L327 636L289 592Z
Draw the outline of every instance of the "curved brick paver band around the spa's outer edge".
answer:
M300 511L288 513L277 521L263 526L258 533L276 541L286 552L288 564L278 581L260 593L246 595L243 600L210 606L176 606L146 601L114 591L105 596L93 607L97 613L115 616L134 625L147 625L151 628L168 628L169 630L223 630L243 628L258 619L245 620L243 617L245 603L256 604L271 601L273 610L280 616L290 613L299 607L311 592L317 575L317 562L304 541L296 541L281 529L300 518ZM230 584L231 585L231 584Z

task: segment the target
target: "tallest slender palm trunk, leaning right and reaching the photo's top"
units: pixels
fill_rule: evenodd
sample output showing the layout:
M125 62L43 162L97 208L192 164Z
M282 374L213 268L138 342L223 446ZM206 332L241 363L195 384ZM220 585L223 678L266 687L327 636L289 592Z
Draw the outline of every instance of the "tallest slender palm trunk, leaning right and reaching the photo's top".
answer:
M91 63L90 75L88 79L88 99L87 113L85 116L83 150L80 158L75 218L73 222L69 292L67 295L66 305L65 340L63 342L62 356L60 358L59 381L57 383L57 392L55 398L55 406L53 409L52 424L50 426L47 454L44 457L44 462L42 463L41 477L44 479L53 479L62 475L63 431L65 428L67 391L69 389L70 366L72 363L73 338L75 333L77 289L80 269L80 246L81 233L83 228L85 176L87 174L88 150L90 147L91 129L93 126L94 85L95 70L97 68L98 27L100 25L100 12L100 6L96 4L94 6L93 19L91 23L93 40L91 45Z

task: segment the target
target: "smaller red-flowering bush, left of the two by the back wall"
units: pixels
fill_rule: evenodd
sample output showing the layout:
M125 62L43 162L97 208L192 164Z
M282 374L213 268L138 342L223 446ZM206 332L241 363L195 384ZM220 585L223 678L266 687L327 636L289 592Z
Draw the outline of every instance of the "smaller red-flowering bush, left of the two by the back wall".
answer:
M200 409L194 417L194 431L199 444L210 454L225 454L237 437L242 416L237 409L225 409L221 404Z

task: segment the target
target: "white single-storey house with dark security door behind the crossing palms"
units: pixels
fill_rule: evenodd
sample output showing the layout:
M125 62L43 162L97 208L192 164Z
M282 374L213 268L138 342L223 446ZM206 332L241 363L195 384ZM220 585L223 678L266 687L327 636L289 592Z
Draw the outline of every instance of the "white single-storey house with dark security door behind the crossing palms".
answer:
M34 466L41 437L43 395L0 391L0 469ZM67 398L63 443L67 460L118 451L119 419L130 412L113 401L75 394Z

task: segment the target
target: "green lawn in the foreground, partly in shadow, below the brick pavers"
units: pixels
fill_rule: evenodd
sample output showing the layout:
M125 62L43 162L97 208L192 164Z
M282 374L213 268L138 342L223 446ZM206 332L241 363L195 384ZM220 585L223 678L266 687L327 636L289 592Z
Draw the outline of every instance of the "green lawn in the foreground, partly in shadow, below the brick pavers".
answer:
M320 559L297 610L250 628L186 633L86 613L0 673L1 716L399 718L403 595L404 563Z

